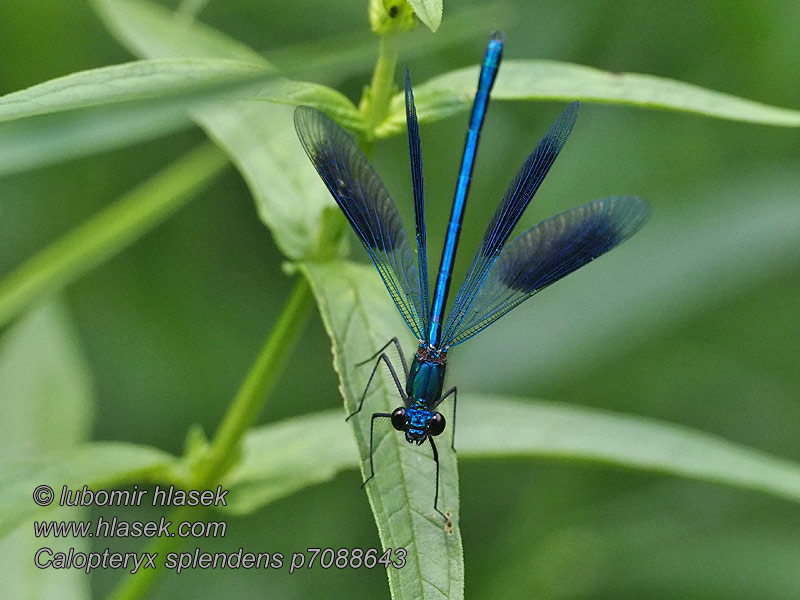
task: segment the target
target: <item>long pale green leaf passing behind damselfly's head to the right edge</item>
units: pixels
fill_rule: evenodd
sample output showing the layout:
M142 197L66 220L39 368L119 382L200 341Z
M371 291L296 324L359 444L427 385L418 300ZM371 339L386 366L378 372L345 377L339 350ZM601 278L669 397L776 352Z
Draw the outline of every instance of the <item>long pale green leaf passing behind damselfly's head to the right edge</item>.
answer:
M456 448L462 460L518 456L612 465L764 492L800 503L800 465L716 435L565 403L478 394L459 398L463 401L459 403ZM365 404L363 413L355 418L368 429L369 413L376 410L383 407ZM377 427L376 435L385 433ZM251 512L357 466L346 429L342 412L325 411L252 431L245 439L242 462L226 481L232 500L228 510ZM408 445L390 427L388 435L397 438L401 446ZM381 445L389 441L382 439ZM397 473L386 454L381 450L376 454L376 479L381 472ZM368 463L362 460L361 464L369 469ZM395 483L403 485L399 474Z

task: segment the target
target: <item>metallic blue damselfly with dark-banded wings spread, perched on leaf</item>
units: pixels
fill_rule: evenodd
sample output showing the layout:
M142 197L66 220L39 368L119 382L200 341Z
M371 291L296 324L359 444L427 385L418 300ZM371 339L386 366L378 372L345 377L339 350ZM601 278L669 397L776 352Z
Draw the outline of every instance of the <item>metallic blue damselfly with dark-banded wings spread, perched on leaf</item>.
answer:
M416 261L394 201L353 139L314 108L300 106L294 116L297 134L308 157L361 239L406 324L419 340L410 368L397 338L390 340L369 359L377 357L358 408L348 419L361 410L381 362L388 367L403 405L391 413L372 415L370 476L364 483L375 476L372 458L375 420L390 419L395 429L405 433L409 443L430 442L436 463L433 506L442 516L445 515L438 507L439 453L433 438L445 429L444 415L437 411L437 407L451 395L455 436L456 388L443 394L450 348L485 329L551 283L631 237L644 225L650 212L644 200L633 196L595 200L542 221L504 248L572 130L579 104L573 102L539 141L508 186L489 221L447 318L444 318L478 137L502 54L503 35L495 32L483 58L432 301L428 291L422 155L408 70L405 100L416 222ZM391 344L400 355L405 387L385 353Z

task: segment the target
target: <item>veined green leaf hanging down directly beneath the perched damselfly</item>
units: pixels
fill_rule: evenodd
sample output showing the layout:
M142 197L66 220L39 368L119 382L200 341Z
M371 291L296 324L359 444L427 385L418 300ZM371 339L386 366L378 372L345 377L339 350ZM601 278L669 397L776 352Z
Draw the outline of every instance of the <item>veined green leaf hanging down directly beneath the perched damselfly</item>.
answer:
M328 335L333 340L334 368L339 374L348 412L358 405L370 366L357 367L390 338L403 335L414 348L407 328L388 301L372 265L346 261L304 264ZM391 412L400 404L397 388L385 369L372 382L364 410L351 419L364 479L369 476L370 419L373 412ZM343 415L342 415L343 416ZM341 417L340 417L341 418ZM434 463L428 445L412 446L388 422L375 426L375 477L367 486L384 548L406 548L408 564L390 569L393 598L461 598L464 589L463 550L458 525L458 473L449 435L438 440L439 509L452 514L453 530L433 509ZM343 452L324 452L337 456ZM320 460L317 456L310 460ZM339 463L341 464L341 462ZM325 473L325 470L317 471ZM285 484L284 484L285 486ZM286 487L286 486L285 486Z

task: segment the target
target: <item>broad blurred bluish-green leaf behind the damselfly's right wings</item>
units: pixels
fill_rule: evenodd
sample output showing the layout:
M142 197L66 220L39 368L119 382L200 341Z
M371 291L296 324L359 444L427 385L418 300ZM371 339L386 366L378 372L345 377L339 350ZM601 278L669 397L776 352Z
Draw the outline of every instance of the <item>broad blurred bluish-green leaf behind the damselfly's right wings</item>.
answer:
M800 261L794 226L800 204L793 185L793 176L780 172L757 189L731 182L705 193L702 208L689 204L654 219L629 242L629 251L609 255L572 283L564 281L563 293L553 290L537 299L538 314L527 325L550 340L546 346L512 342L512 356L485 357L486 368L511 378L525 364L535 364L537 373L529 380L539 389L569 381L624 356L644 343L645 335L669 330L676 319L702 318L726 297L790 272ZM759 196L771 201L754 202ZM600 290L609 282L601 294L569 289L578 284ZM545 316L556 312L571 317ZM573 360L576 353L583 360Z

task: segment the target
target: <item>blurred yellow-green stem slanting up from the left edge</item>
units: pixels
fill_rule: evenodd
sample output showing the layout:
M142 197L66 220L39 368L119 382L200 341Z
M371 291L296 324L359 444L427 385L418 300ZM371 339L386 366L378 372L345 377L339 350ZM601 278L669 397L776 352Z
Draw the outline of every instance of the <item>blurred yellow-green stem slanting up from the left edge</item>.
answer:
M228 164L205 143L28 259L0 281L0 327L162 223Z

